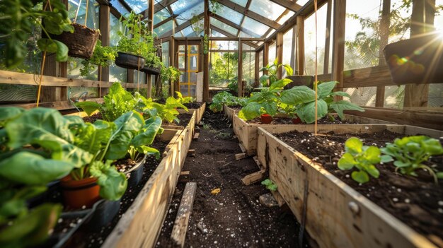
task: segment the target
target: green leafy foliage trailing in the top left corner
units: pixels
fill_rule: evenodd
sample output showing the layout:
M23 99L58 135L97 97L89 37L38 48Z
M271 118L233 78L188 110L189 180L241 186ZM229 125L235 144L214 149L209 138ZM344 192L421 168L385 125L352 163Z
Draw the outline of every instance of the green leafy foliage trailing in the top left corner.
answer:
M1 25L0 33L4 35L5 45L1 47L2 63L13 68L23 63L28 52L27 40L33 27L40 26L47 38L40 38L37 44L40 50L55 52L57 61L67 61L68 48L62 42L52 40L50 34L74 32L70 25L66 6L60 0L50 1L51 6L43 0L2 0L0 1ZM52 11L50 11L52 8ZM43 20L43 21L42 21Z

